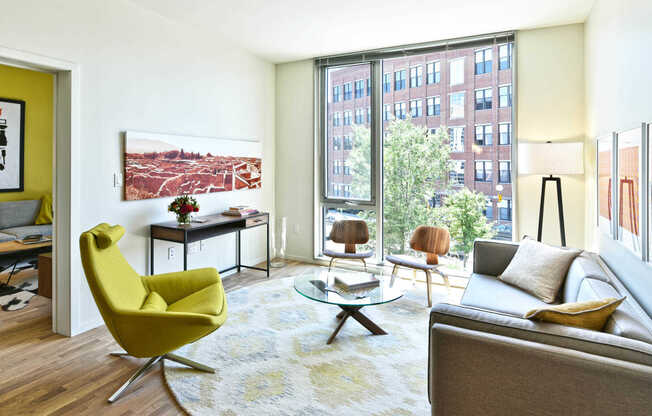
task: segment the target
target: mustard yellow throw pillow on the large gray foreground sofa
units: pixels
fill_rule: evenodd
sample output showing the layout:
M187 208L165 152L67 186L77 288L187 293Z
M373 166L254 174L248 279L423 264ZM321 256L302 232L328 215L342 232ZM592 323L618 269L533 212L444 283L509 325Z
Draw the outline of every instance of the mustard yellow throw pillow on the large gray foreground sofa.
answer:
M607 319L624 300L625 297L562 303L548 308L532 309L523 317L601 331Z

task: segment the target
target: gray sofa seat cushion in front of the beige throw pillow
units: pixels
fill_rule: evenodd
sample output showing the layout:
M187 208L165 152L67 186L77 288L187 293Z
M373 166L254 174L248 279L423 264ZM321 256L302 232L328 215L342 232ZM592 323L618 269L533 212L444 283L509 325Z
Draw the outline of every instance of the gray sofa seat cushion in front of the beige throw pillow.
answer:
M549 306L535 296L498 280L495 276L473 273L460 302L489 311L522 317L527 311Z

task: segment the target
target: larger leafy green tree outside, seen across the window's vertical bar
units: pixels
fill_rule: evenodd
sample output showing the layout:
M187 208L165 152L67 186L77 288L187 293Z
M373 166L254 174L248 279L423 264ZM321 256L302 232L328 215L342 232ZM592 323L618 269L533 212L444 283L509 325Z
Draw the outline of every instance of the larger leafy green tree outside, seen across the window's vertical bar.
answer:
M361 199L368 199L370 194L369 138L369 129L354 128L349 155L354 178L351 193ZM394 120L386 129L383 157L385 249L389 253L405 253L417 226L444 224L443 210L431 207L429 200L446 189L450 170L448 135L445 129L430 134L426 127L413 124L409 118Z

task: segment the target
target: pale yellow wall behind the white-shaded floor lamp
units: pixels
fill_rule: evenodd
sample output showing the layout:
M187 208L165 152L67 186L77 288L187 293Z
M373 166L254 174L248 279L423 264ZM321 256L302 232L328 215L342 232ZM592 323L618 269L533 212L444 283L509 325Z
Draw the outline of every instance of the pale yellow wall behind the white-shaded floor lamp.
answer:
M584 25L519 31L517 35L517 131L519 141L585 141ZM586 151L585 151L586 152ZM585 172L586 172L585 163ZM569 246L584 248L585 175L562 175ZM517 237L536 237L541 176L518 176ZM543 241L559 245L554 186L546 186Z

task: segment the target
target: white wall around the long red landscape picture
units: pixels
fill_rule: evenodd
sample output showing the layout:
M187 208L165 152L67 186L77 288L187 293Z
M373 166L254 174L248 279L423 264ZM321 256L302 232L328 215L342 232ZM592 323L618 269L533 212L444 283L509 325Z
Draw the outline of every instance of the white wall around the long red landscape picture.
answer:
M148 225L173 217L165 211L170 198L125 202L121 190L112 188L113 173L122 171L125 130L260 139L262 190L197 199L204 213L233 203L274 212L272 64L123 0L0 0L0 10L0 46L79 64L80 226L87 229L104 221L124 225L127 234L120 248L136 271L146 273L149 264ZM264 231L252 231L246 238L243 260L262 259ZM233 263L229 238L216 240L191 257L190 267ZM157 272L179 270L181 256L176 263L168 262L165 246L157 246ZM72 322L73 332L98 325L101 321L85 281L72 290L80 291L82 298L80 322Z

